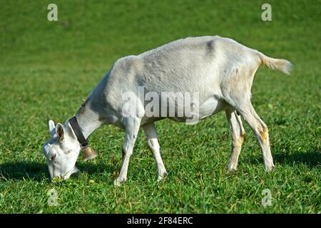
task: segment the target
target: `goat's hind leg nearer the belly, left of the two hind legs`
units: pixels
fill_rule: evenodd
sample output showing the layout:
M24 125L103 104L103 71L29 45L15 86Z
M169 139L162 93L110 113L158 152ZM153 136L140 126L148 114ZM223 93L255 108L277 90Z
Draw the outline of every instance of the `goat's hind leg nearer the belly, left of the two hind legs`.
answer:
M238 167L238 157L245 138L245 130L242 125L240 115L233 108L225 110L228 125L230 127L230 135L232 137L232 152L228 160L228 170L234 171Z

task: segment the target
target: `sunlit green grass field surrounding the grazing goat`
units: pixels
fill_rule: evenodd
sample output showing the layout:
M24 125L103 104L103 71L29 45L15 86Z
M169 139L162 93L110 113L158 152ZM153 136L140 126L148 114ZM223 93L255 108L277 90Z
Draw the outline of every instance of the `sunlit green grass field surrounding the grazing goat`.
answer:
M47 21L47 6L58 21ZM1 1L0 213L318 213L320 191L321 1ZM225 113L198 125L156 123L168 177L139 133L128 181L121 167L122 130L103 126L91 145L99 157L51 182L41 146L48 120L64 123L117 58L185 36L220 35L294 64L291 76L260 68L253 105L270 129L275 170L265 172L248 125L238 171L226 172ZM47 203L55 189L58 206ZM263 190L272 205L263 207Z

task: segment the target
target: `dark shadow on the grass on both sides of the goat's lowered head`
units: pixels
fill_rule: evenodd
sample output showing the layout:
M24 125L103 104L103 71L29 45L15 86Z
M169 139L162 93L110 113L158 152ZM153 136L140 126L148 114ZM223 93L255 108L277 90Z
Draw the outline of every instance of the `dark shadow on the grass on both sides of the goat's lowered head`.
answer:
M94 164L92 162L77 162L80 172L88 174L113 172L113 165ZM46 163L40 162L6 162L0 165L0 182L9 180L33 180L36 182L50 182Z

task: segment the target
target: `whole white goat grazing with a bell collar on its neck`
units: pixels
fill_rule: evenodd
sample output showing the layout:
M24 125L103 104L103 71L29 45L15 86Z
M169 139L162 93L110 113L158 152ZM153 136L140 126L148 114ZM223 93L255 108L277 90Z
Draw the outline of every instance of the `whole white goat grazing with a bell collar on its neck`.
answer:
M253 78L261 64L287 74L291 68L289 61L269 58L259 51L220 36L183 38L138 56L118 59L81 105L73 126L70 120L65 125L58 123L56 127L52 120L49 121L52 138L44 144L44 155L51 178L66 179L76 172L75 163L81 145L87 146L81 139L86 139L101 125L113 124L126 130L123 164L115 185L126 181L129 159L140 127L146 134L158 167L158 180L161 180L167 172L161 158L154 122L165 117L188 121L191 115L203 119L221 110L225 110L233 142L228 169L236 170L238 165L245 138L242 116L260 142L266 170L272 170L274 164L267 125L255 112L250 101ZM185 109L187 106L195 108L195 103L183 103L183 107L178 108L182 100L172 99L168 105L162 103L159 107L154 106L153 111L161 113L172 105L176 107L175 116L146 115L148 104L146 97L141 98L139 95L141 87L145 95L153 93L160 97L163 92L198 93L198 110ZM131 94L128 96L130 99L123 99L128 92ZM173 94L170 98L173 98ZM185 110L183 116L177 115L181 108ZM165 113L168 114L168 111ZM88 147L85 152L93 153Z

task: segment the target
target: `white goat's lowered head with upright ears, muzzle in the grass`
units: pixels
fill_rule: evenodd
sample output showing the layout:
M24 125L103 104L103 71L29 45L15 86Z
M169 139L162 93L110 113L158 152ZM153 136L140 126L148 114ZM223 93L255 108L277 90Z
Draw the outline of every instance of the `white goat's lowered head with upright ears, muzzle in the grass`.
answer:
M59 177L68 179L71 174L78 172L76 160L81 150L80 144L74 135L68 121L65 125L49 120L49 132L51 139L43 146L51 180Z

